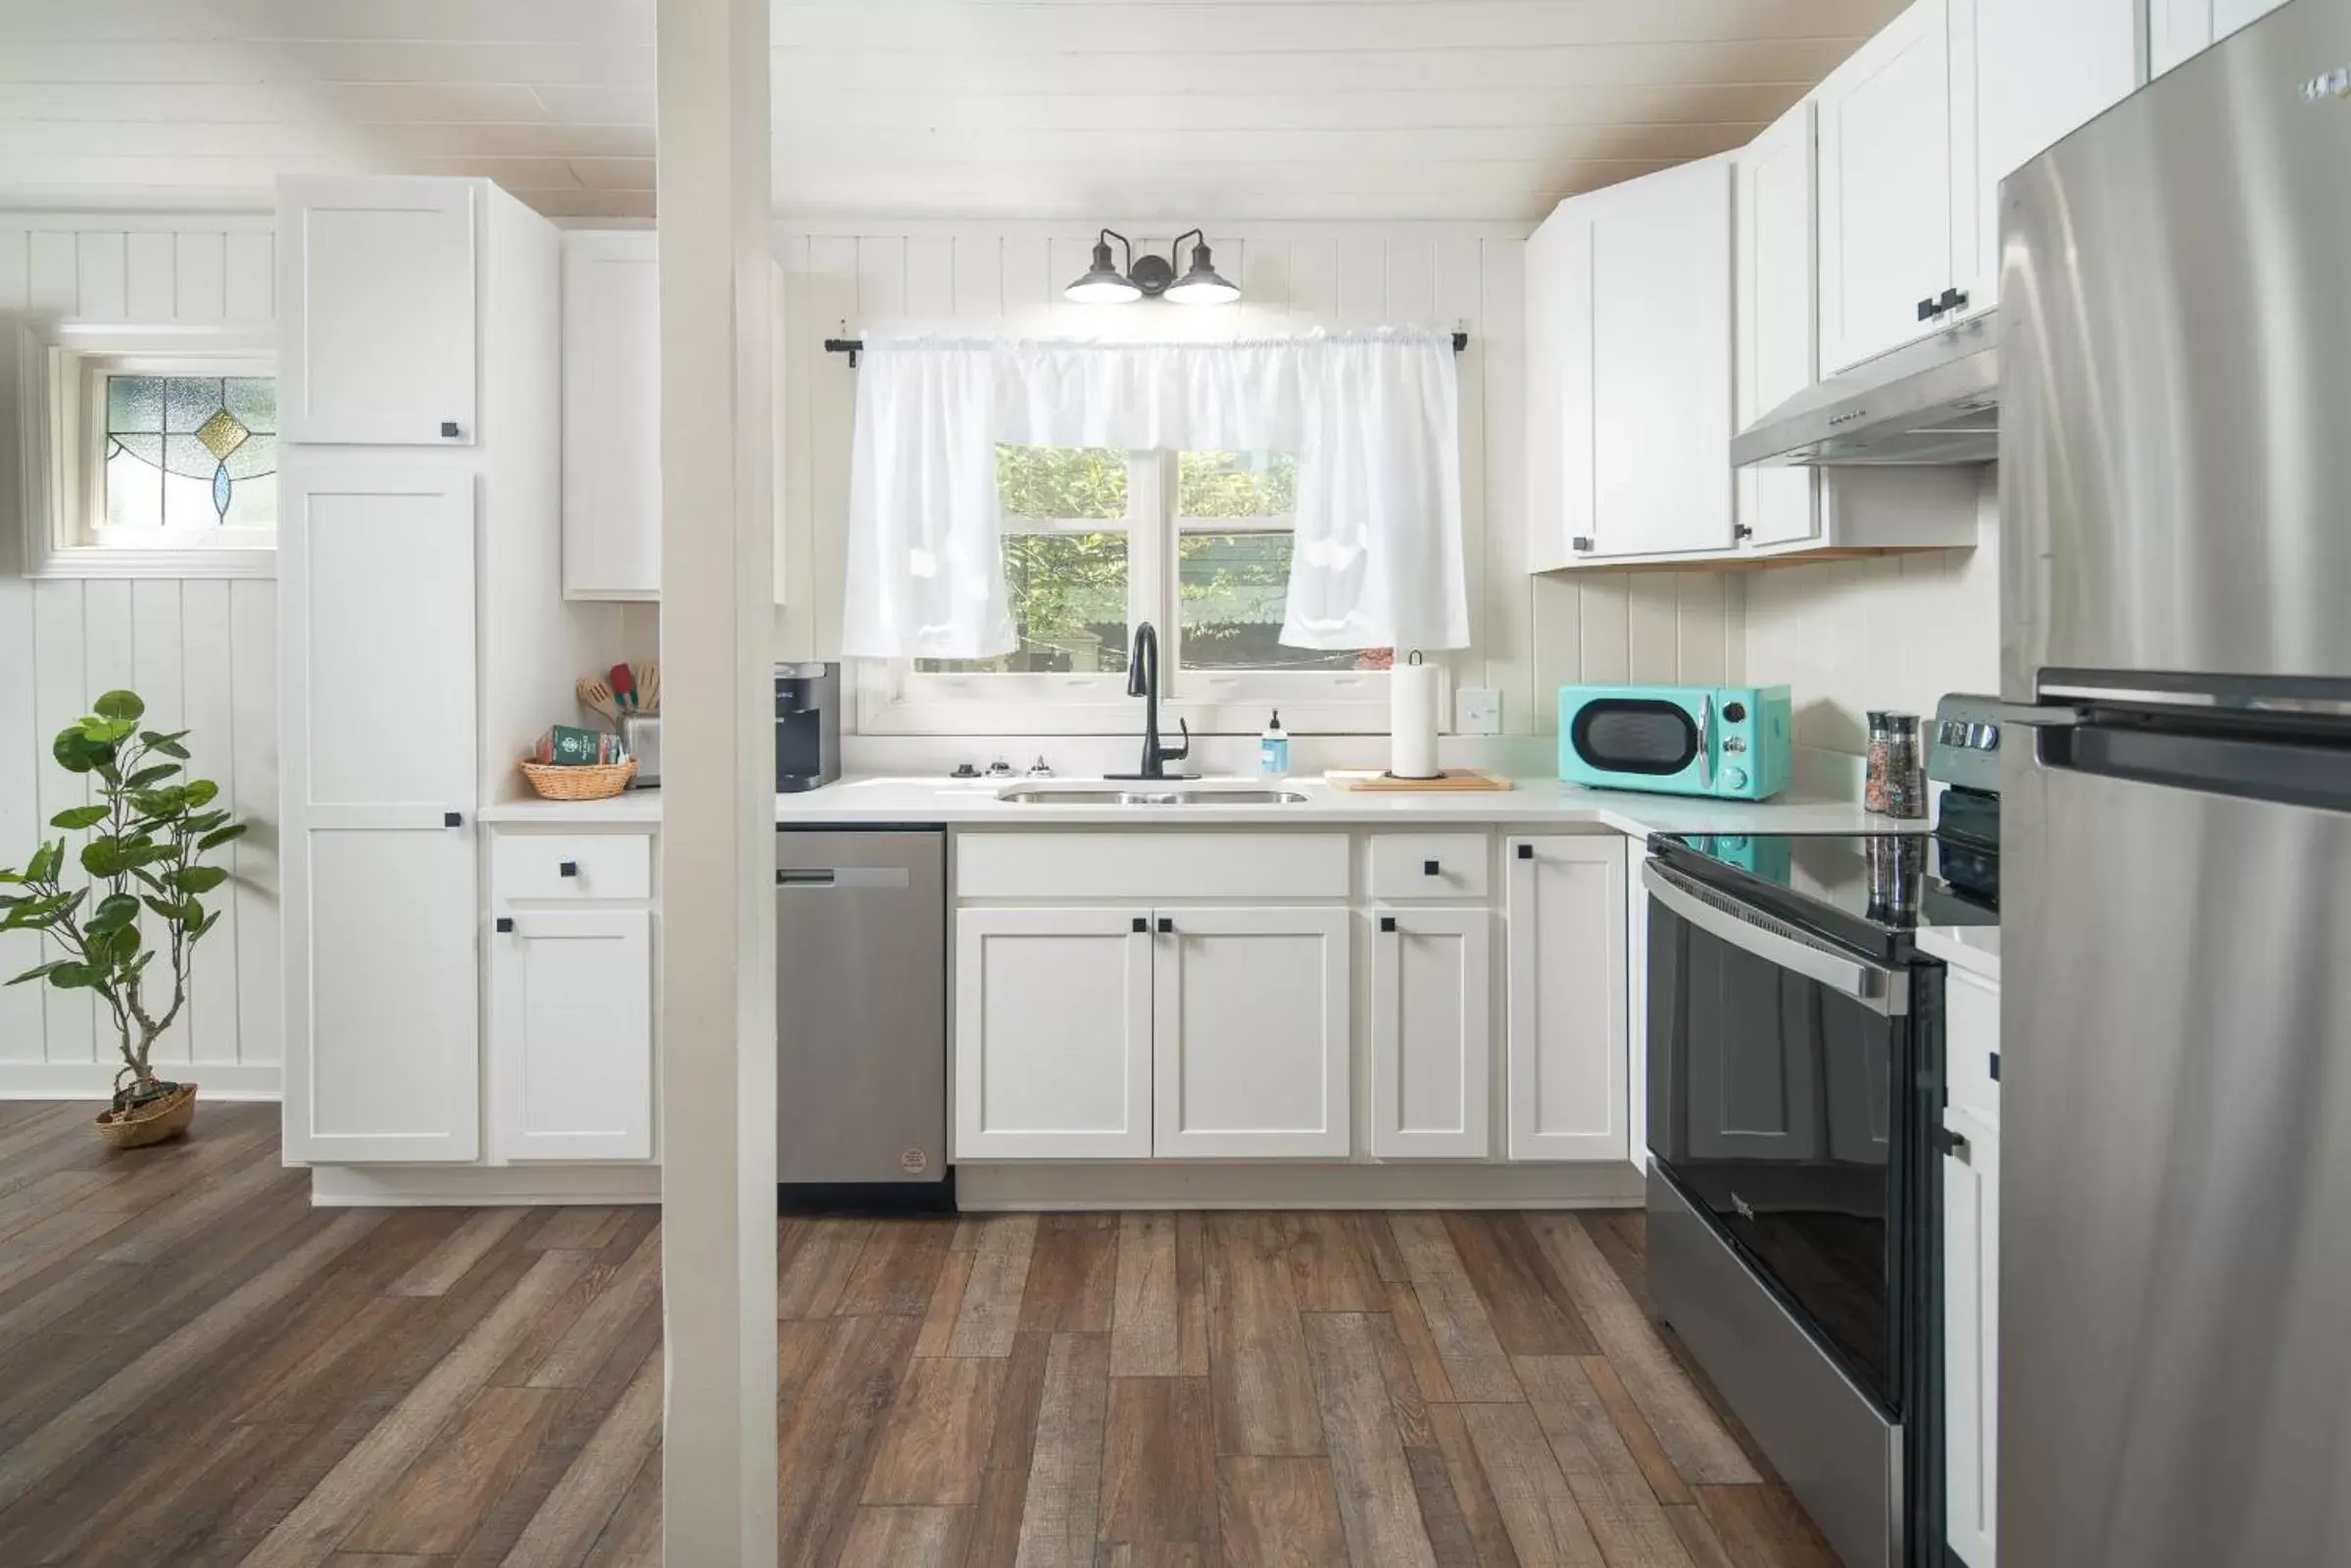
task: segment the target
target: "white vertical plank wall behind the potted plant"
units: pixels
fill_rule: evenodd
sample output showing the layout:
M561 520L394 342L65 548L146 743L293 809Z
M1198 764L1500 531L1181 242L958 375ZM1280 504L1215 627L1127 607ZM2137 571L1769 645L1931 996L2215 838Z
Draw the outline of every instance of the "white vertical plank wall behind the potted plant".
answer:
M0 212L0 324L21 313L94 322L235 322L275 315L273 235L256 219ZM221 926L195 957L193 1001L158 1046L214 1093L275 1093L277 585L270 581L26 581L16 550L14 386L0 386L0 865L24 865L85 783L49 736L110 686L134 686L158 729L193 729L195 769L254 830L223 860ZM0 978L42 954L0 936ZM0 1095L92 1093L113 1037L87 992L0 990Z

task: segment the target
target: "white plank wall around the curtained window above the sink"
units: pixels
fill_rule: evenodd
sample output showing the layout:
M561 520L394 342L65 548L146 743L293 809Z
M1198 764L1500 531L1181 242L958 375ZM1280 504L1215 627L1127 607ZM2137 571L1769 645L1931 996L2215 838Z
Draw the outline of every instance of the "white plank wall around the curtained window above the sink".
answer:
M778 487L795 585L778 656L839 646L842 527L856 371L823 339L962 327L1006 334L1232 336L1310 327L1467 329L1462 501L1474 646L1460 684L1502 691L1509 733L1556 729L1540 693L1573 679L1712 682L1744 661L1740 585L1707 571L1526 574L1526 228L1479 223L1208 223L1215 266L1244 299L1215 310L1072 306L1091 233L1044 226L788 226L785 418ZM1173 226L1119 226L1166 254ZM1140 235L1152 235L1143 240ZM1549 456L1549 454L1545 454Z

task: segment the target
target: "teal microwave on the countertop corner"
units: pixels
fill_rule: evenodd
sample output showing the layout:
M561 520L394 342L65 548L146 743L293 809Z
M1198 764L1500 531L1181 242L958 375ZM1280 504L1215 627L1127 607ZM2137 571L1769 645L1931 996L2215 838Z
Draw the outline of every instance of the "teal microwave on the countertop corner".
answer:
M1791 724L1787 686L1561 686L1559 778L1770 799L1787 788Z

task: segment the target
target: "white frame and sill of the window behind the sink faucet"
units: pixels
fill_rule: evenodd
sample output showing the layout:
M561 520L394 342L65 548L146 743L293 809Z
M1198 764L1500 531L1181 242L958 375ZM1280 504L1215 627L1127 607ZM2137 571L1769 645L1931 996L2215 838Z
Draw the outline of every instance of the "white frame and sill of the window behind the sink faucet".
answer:
M1180 454L1126 454L1126 517L1006 520L1006 534L1126 531L1126 625L1159 628L1161 726L1253 736L1279 708L1291 733L1387 733L1387 670L1185 670L1178 545L1185 531L1286 534L1293 517L1183 517ZM858 729L877 736L1121 736L1143 724L1126 675L929 672L860 661Z

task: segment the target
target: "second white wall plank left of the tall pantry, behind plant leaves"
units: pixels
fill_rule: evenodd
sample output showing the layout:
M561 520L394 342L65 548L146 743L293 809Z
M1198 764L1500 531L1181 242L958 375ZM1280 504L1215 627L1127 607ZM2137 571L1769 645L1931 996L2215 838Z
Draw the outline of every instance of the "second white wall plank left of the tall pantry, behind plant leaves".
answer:
M228 583L193 581L179 588L179 724L188 729L193 752L193 778L209 778L221 785L214 806L235 811L237 802L237 719L233 658L235 642L228 625ZM139 658L146 663L146 635L141 628ZM146 677L141 677L143 682ZM235 877L237 851L228 844L212 853L212 865ZM195 973L188 997L188 1060L233 1063L237 1060L237 905L245 903L242 886L230 882L212 893L205 905L219 910L221 924L195 947Z

